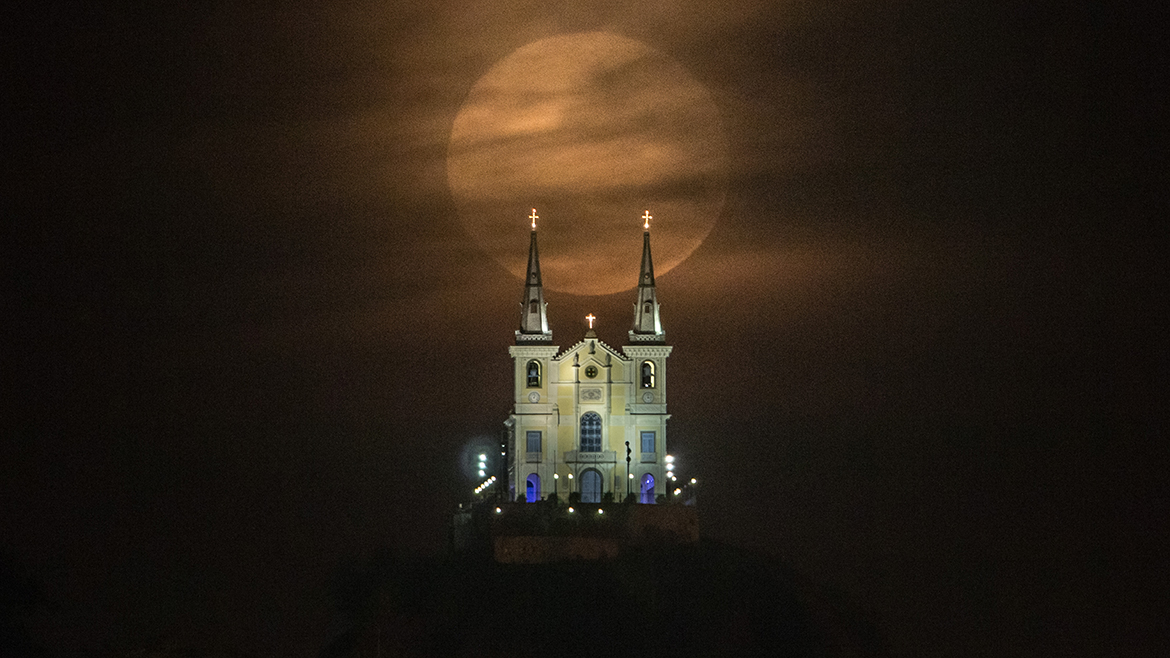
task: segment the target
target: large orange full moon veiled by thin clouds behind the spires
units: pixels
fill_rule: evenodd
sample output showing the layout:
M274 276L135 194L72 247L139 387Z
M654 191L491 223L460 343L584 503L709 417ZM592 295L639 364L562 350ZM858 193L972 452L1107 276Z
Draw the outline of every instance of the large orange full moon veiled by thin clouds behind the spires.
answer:
M702 244L727 194L727 137L707 90L610 33L544 39L480 78L455 116L447 179L476 242L519 279L531 208L545 288L633 288L642 213L656 275Z

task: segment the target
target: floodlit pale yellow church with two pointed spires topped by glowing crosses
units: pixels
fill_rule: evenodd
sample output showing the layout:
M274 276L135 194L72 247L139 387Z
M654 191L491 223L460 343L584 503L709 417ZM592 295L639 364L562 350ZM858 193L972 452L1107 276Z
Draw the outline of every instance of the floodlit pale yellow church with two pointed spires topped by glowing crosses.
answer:
M504 423L508 498L535 502L577 493L581 502L661 500L669 488L666 411L670 345L659 313L651 214L642 215L642 260L633 327L620 351L590 329L565 351L552 344L541 281L536 211L512 357L512 412Z

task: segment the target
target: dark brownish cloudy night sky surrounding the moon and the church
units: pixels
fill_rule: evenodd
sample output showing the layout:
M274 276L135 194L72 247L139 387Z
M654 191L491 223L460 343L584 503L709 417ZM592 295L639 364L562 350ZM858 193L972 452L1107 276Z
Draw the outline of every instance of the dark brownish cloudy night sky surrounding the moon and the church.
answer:
M5 21L0 549L50 654L312 656L339 569L445 549L461 451L509 412L523 290L448 185L452 126L511 53L592 32L684 70L727 142L709 233L658 276L704 535L895 654L1165 649L1156 21L163 5ZM672 190L607 191L629 288ZM522 253L536 206L542 256L586 258L553 197L500 201L500 239ZM556 344L589 313L624 344L633 290L548 279Z

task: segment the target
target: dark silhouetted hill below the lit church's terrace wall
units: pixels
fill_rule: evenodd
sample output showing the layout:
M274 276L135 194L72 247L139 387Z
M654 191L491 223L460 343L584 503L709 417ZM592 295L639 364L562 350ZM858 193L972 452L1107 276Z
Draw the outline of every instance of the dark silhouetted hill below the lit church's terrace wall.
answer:
M882 656L840 601L721 544L610 561L376 557L343 578L321 656Z

